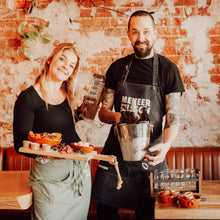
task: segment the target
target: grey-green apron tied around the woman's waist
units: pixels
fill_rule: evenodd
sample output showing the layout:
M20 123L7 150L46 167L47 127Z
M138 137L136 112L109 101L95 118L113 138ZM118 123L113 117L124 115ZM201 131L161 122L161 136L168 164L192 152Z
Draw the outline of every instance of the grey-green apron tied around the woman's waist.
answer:
M36 159L29 177L33 220L86 220L91 193L87 162Z

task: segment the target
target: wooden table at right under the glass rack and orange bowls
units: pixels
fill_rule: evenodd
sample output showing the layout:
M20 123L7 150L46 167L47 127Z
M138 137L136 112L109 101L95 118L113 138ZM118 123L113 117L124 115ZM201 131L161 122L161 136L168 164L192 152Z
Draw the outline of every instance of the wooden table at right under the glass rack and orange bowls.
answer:
M182 208L179 204L155 201L155 219L220 219L220 180L202 180L201 201L197 208Z

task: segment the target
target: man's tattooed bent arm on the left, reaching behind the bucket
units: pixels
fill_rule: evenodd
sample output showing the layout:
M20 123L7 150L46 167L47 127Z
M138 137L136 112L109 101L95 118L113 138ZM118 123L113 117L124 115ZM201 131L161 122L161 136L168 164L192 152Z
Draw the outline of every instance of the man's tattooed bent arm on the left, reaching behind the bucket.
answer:
M105 88L102 100L102 107L99 111L99 119L102 122L113 124L119 123L121 113L113 112L115 90Z

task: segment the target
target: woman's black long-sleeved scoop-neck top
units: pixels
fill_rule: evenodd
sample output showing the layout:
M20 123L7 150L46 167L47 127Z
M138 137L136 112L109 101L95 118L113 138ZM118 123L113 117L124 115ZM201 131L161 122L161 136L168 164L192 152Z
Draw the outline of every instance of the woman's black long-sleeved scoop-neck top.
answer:
M80 140L67 99L58 105L48 104L47 109L33 86L21 92L14 106L13 135L17 152L22 141L28 139L29 131L61 133L62 143L66 144Z

